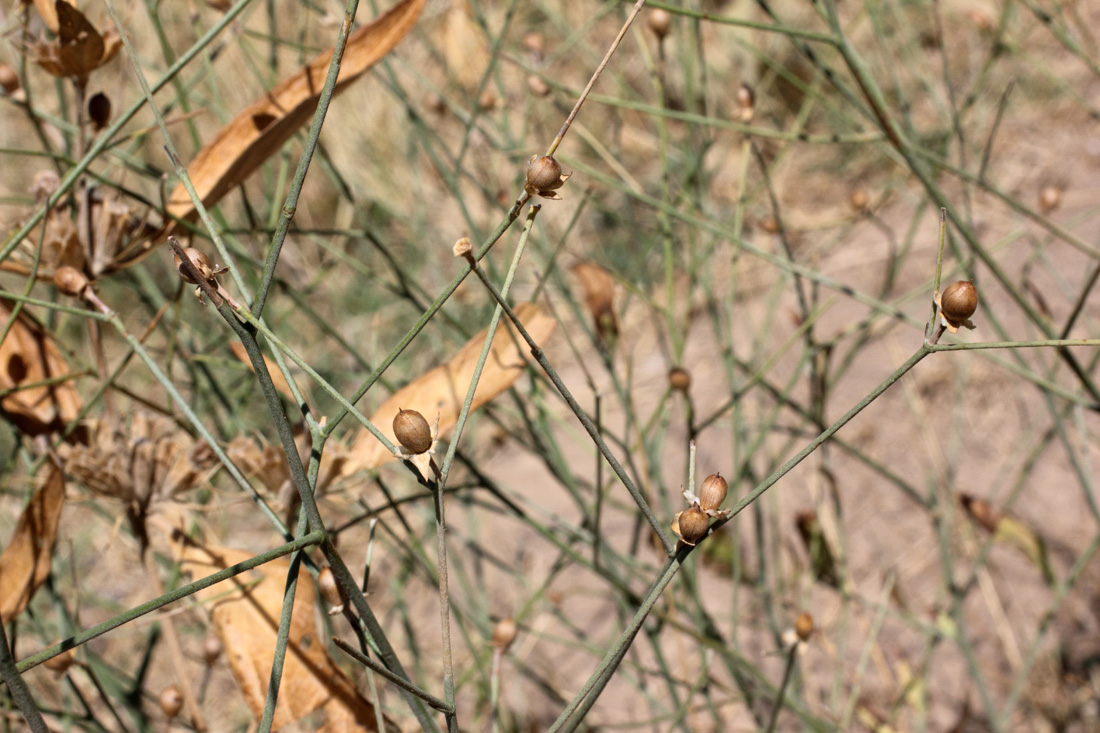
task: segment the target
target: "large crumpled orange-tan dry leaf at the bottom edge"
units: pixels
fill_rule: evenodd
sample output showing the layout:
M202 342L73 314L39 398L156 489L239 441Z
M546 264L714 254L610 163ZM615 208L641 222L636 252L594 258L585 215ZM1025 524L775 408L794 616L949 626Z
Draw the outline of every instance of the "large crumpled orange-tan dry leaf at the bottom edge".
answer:
M182 548L180 566L198 579L250 557L249 553L229 547L187 546ZM226 649L233 678L257 718L263 714L267 694L288 568L286 559L274 560L198 592L199 599L209 603L215 631ZM232 587L237 590L227 592ZM377 731L374 705L336 666L322 638L317 635L315 605L314 583L307 572L299 572L283 683L272 729L323 709L324 723L318 729L320 733ZM387 732L399 732L388 718L383 720Z

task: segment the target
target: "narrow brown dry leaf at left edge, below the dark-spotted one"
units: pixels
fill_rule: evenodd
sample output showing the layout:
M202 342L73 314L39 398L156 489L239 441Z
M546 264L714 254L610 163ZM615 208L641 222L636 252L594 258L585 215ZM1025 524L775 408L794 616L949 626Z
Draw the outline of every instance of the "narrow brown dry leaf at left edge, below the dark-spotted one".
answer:
M57 524L65 505L65 480L53 461L42 467L42 483L23 510L15 533L0 555L0 622L26 608L34 591L50 577Z

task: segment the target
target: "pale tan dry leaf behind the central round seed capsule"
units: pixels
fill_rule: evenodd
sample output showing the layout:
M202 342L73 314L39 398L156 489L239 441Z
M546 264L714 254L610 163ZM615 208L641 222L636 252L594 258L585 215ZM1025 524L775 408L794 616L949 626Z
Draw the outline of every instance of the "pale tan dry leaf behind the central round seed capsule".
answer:
M554 326L557 326L557 321L534 303L521 304L516 308L516 315L519 316L519 320L531 338L540 343L553 332ZM493 339L493 347L485 361L485 369L482 371L481 381L477 382L477 391L474 393L471 412L507 390L524 373L526 362L516 346L517 342L522 343L522 340L510 322L508 326L509 332L506 333L504 329L497 329L496 337ZM437 366L395 392L371 416L371 422L374 423L375 427L396 444L394 417L402 408L420 412L429 423L433 422L438 415L437 435L442 435L454 427L459 419L459 412L462 409L462 402L470 389L470 382L473 380L477 355L485 343L487 332L488 329L480 331L449 362ZM373 435L364 430L352 444L351 452L343 464L343 475L362 469L377 468L392 460L394 460L393 453L387 451Z

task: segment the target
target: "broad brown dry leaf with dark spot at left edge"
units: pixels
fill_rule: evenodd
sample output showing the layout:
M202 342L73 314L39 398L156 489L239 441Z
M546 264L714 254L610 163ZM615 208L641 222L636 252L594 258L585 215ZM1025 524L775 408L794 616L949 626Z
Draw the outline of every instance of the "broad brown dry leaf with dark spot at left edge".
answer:
M0 324L11 315L9 304L0 302ZM64 380L67 374L65 359L42 325L21 310L0 342L0 390L9 392L0 398L0 409L28 435L61 430L84 404L73 383ZM42 384L47 381L52 383Z

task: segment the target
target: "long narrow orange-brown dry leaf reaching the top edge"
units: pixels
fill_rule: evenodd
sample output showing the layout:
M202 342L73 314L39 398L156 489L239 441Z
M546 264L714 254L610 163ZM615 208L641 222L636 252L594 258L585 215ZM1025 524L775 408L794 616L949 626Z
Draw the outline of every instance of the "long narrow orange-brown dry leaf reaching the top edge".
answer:
M405 37L416 23L425 0L403 0L348 39L333 94L362 76ZM324 86L332 48L309 66L283 79L221 129L195 156L188 175L205 206L213 206L244 180L312 117ZM173 218L195 217L195 206L183 184L168 200L169 220L164 234L175 229ZM161 238L163 239L163 237Z

